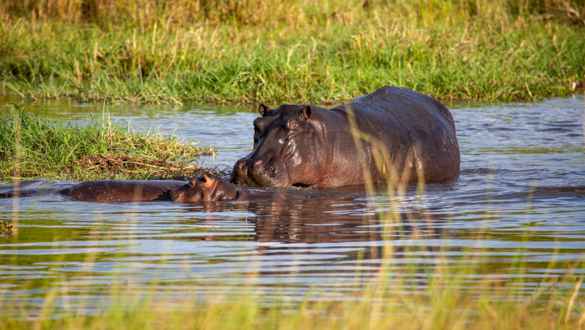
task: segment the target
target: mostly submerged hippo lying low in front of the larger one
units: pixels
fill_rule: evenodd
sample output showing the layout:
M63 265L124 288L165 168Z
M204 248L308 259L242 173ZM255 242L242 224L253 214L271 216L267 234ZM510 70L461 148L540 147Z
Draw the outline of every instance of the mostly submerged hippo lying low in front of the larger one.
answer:
M24 181L23 183L26 183ZM173 201L180 203L224 201L224 200L260 200L260 199L304 199L306 196L292 192L253 191L244 187L235 187L219 175L210 171L189 182L166 180L95 180L78 183L65 188L42 190L35 187L32 180L19 192L27 197L39 194L56 194L71 200L95 203L116 202L150 202ZM13 186L5 192L0 191L0 198L14 196Z

